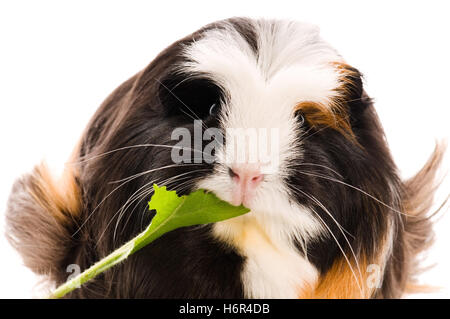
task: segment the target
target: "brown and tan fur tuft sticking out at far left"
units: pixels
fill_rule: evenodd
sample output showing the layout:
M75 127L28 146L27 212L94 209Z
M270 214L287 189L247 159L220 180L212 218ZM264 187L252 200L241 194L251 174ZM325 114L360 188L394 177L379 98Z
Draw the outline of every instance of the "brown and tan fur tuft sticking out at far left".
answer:
M55 180L41 164L13 185L6 212L7 239L32 271L65 280L65 259L74 247L71 235L79 212L80 191L73 172L66 170Z

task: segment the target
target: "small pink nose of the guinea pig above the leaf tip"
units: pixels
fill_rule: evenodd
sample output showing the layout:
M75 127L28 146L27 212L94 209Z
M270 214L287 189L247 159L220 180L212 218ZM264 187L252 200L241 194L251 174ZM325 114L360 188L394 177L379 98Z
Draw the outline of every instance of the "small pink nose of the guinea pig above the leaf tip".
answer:
M255 190L264 179L259 167L251 164L240 164L230 168L228 173L233 179L232 204L248 204Z

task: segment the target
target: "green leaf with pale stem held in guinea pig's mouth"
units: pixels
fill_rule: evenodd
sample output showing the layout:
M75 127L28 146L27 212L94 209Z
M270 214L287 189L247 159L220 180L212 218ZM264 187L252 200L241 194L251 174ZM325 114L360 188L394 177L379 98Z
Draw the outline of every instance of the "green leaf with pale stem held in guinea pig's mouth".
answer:
M168 191L165 186L158 187L155 184L153 189L154 194L148 204L150 210L156 210L156 215L150 225L83 273L59 286L50 298L63 297L169 231L180 227L215 223L249 212L249 209L243 206L230 205L204 190L180 197L175 191Z

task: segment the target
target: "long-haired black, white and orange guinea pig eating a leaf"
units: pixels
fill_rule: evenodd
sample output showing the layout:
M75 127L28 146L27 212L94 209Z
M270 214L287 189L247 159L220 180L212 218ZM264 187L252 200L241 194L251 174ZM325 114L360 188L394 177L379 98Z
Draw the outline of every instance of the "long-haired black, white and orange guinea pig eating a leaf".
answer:
M432 242L442 157L402 180L360 72L316 27L231 18L113 91L61 176L19 178L6 233L59 285L145 229L154 183L204 189L250 212L169 232L66 297L398 298Z

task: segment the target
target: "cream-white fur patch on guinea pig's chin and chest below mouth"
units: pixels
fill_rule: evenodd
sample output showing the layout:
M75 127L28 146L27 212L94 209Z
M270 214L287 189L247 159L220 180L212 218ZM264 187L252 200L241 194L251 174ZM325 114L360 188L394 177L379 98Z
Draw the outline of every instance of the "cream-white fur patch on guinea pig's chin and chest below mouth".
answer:
M217 223L214 234L232 243L246 257L241 279L248 298L297 298L305 285L314 286L318 273L299 255L286 231L286 225L267 227L270 222L255 216ZM252 216L253 215L253 216ZM284 238L283 238L284 237Z

